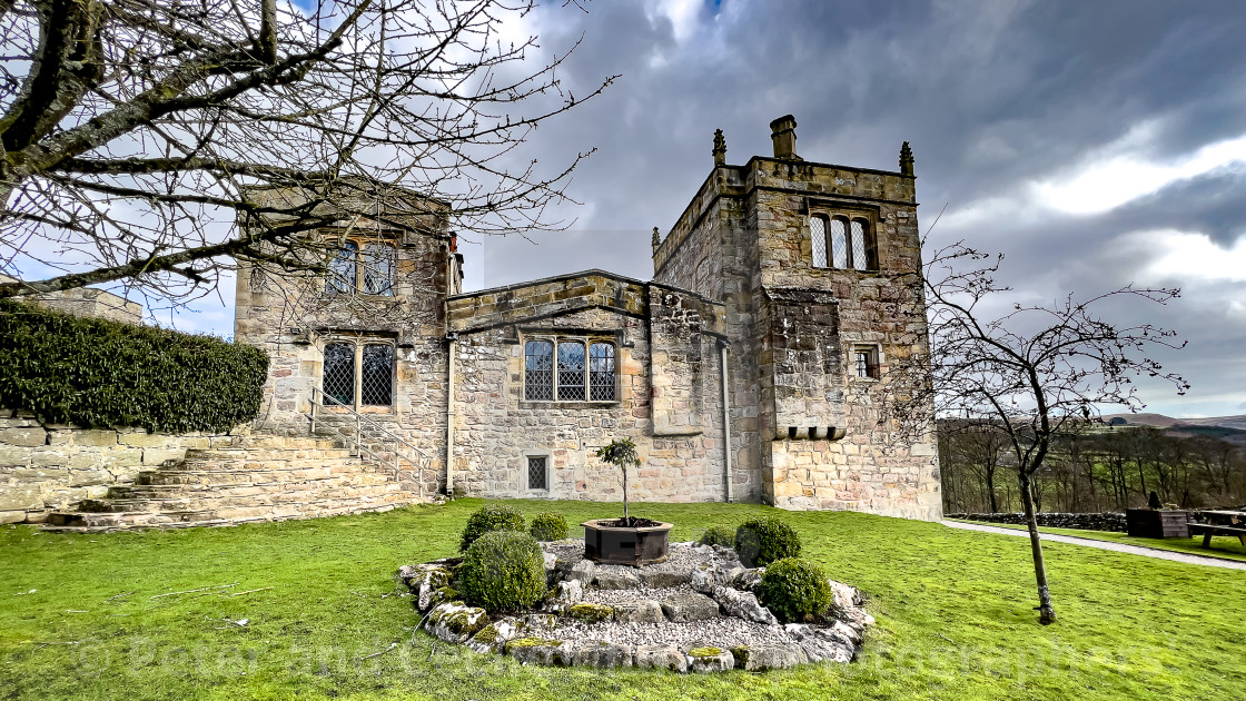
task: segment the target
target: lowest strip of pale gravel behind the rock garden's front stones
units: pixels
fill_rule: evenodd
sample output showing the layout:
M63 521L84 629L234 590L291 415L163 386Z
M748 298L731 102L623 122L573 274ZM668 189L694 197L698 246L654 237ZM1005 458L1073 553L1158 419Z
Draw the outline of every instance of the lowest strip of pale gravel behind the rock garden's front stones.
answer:
M741 619L710 619L690 624L662 621L655 624L583 624L563 620L552 631L559 640L573 642L598 640L621 645L678 645L680 647L721 647L736 645L782 645L794 642L787 632L776 626L755 624Z

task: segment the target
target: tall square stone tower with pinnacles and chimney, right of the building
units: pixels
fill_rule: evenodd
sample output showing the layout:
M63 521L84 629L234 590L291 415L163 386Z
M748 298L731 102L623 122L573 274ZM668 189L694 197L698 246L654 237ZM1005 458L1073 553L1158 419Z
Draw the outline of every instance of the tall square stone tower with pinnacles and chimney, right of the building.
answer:
M895 440L877 407L888 359L926 343L925 307L900 306L921 268L913 160L901 171L796 155L715 163L654 248L654 279L725 303L735 499L937 519L933 437ZM931 408L933 412L933 408Z

